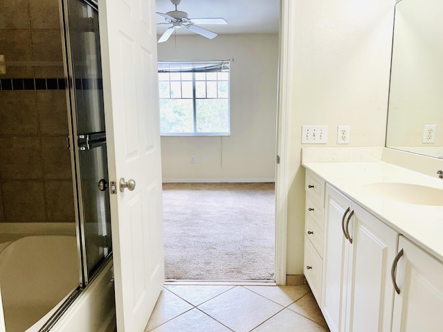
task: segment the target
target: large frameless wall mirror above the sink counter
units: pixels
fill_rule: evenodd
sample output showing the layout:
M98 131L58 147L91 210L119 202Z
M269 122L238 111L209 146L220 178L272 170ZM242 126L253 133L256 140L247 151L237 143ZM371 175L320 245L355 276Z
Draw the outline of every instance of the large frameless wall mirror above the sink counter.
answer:
M443 158L442 17L441 0L397 2L387 147Z

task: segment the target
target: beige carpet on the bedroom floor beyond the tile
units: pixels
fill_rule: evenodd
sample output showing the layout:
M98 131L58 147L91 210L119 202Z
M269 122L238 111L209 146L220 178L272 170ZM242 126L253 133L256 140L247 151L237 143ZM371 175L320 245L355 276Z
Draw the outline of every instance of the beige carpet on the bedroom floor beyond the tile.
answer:
M273 279L274 183L164 183L166 279Z

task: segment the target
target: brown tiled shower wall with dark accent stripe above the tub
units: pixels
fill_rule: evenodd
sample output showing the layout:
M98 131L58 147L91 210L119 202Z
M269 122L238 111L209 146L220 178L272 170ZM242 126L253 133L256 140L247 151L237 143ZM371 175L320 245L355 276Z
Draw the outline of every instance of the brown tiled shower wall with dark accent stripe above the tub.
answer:
M74 222L58 0L1 0L0 222Z

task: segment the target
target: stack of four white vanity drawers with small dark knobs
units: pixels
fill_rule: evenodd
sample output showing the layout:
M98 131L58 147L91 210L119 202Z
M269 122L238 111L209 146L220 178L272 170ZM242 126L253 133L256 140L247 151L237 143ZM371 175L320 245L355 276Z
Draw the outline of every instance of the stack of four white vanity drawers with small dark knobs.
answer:
M325 210L325 182L306 173L305 181L305 278L312 294L320 303L323 273L323 227Z

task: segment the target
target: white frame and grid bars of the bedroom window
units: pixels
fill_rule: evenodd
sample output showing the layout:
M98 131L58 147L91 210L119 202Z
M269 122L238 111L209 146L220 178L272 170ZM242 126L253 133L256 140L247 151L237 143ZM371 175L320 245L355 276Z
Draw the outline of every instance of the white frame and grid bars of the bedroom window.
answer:
M230 136L230 60L190 60L190 61L171 61L171 60L159 60L159 85L161 82L169 82L169 94L172 96L171 82L180 82L180 98L161 98L159 95L159 102L161 104L161 100L192 100L192 129L193 131L189 132L163 132L161 131L161 136ZM161 80L160 74L168 73L168 80ZM183 80L182 75L180 75L180 79L172 79L171 73L191 73L192 80ZM199 80L196 79L197 73L205 73L205 79ZM217 77L214 79L208 79L208 73L217 73ZM223 77L219 77L218 73L227 73L227 80L222 79ZM183 82L191 82L192 84L192 98L183 98ZM205 82L205 98L197 97L197 82ZM217 84L216 97L208 98L208 82L215 82ZM227 82L227 97L220 98L219 97L219 82ZM227 122L228 122L228 130L227 131L198 131L198 100L227 100ZM159 111L161 109L159 107ZM160 116L161 122L161 116ZM161 127L160 127L161 128Z

